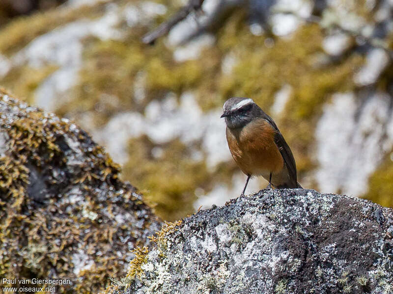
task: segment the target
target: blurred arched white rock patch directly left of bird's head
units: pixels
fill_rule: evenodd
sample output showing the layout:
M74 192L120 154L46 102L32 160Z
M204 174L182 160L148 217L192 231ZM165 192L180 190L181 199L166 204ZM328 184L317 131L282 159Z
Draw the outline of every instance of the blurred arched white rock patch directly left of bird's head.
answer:
M145 116L138 112L116 115L93 138L104 144L116 162L128 160L127 145L132 138L146 134L154 143L163 144L180 138L185 144L201 140L206 151L208 168L231 158L226 147L225 122L221 109L203 113L191 92L185 92L177 104L169 95L162 101L153 100L145 108Z

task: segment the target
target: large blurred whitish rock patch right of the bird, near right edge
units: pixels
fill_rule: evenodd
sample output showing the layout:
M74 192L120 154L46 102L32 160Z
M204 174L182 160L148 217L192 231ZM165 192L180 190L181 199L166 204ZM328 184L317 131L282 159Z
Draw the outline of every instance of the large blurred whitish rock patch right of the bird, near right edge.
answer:
M390 97L375 93L364 105L353 93L336 94L324 108L315 137L319 167L315 179L322 192L361 196L393 138L385 126L392 111ZM386 135L388 137L386 138Z

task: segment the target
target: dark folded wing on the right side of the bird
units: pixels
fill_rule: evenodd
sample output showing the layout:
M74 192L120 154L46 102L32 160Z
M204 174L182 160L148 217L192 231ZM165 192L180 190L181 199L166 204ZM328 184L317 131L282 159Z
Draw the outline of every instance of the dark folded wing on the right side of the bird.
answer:
M293 182L294 186L297 185L297 175L296 175L296 163L295 158L293 158L293 154L288 144L286 144L284 137L282 136L279 128L273 119L264 113L264 119L267 120L275 129L276 135L274 137L274 142L280 150L281 156L284 159L286 168L288 169L289 179Z

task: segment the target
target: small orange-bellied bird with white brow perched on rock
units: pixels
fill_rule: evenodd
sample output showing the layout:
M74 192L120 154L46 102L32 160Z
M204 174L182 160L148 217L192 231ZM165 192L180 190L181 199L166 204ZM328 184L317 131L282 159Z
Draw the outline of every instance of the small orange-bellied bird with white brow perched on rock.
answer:
M291 149L272 118L250 98L229 98L223 108L229 150L247 175L241 195L254 175L268 180L269 188L302 188Z

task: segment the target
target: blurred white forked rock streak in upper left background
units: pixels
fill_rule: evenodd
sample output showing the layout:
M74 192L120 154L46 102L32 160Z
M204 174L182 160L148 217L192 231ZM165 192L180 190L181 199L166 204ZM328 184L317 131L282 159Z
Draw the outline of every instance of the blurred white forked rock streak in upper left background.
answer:
M82 66L82 40L93 36L101 40L119 39L121 33L115 28L120 17L116 5L108 5L106 13L97 20L79 20L54 29L31 41L17 52L12 66L27 63L33 68L49 65L59 67L47 77L35 91L35 104L54 111L67 101L66 92L78 81Z

